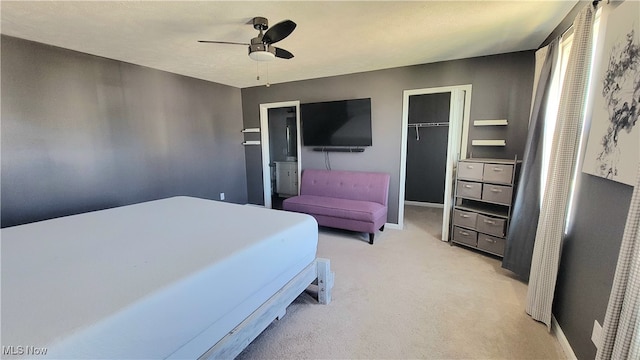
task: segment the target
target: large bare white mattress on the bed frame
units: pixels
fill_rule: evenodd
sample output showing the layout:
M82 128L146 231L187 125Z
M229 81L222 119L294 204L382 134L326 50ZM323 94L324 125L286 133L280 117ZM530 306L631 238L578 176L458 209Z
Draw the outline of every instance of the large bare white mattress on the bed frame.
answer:
M318 239L307 215L189 197L1 235L2 345L65 359L197 357L312 263Z

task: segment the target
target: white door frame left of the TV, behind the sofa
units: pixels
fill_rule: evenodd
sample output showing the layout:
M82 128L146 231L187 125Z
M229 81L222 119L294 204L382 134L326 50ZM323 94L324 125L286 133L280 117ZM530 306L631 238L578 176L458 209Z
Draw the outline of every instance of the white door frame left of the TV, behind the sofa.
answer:
M298 162L298 193L300 193L300 175L302 142L300 140L300 101L282 101L276 103L260 104L260 145L262 149L262 191L264 199L264 207L271 209L271 153L269 151L269 109L295 107L296 108L296 146L297 146L297 162Z

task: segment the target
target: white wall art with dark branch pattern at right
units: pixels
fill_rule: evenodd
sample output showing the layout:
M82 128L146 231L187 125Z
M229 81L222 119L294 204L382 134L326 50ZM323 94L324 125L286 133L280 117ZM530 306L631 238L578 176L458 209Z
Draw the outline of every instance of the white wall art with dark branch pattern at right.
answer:
M640 2L607 6L602 17L582 171L634 185L640 160Z

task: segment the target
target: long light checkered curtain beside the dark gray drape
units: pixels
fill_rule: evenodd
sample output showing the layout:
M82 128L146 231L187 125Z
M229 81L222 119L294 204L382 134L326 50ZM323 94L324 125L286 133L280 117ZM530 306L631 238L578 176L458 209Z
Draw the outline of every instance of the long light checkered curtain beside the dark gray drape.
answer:
M569 192L573 182L576 152L584 120L595 9L586 6L576 17L574 38L566 77L560 95L560 109L533 249L526 311L551 329L551 310Z

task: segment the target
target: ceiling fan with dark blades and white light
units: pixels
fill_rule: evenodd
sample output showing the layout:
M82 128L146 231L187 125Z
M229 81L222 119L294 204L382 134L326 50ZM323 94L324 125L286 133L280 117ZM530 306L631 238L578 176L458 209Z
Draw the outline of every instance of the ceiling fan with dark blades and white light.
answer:
M251 39L251 43L239 43L232 41L198 40L201 43L245 45L249 47L249 57L256 61L269 61L275 58L291 59L293 54L272 44L289 36L296 28L296 23L284 20L269 28L269 22L263 17L254 17L251 20L253 28L260 31L258 36ZM268 30L267 30L268 29ZM263 33L263 31L265 31Z

